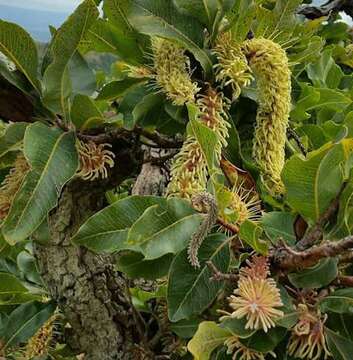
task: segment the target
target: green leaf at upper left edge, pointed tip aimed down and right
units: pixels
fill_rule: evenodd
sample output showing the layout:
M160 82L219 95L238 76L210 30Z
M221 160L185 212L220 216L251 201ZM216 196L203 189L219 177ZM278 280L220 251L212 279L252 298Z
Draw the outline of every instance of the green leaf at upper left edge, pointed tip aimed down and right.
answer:
M23 73L31 85L40 92L37 79L38 54L30 35L20 26L0 20L0 51Z

